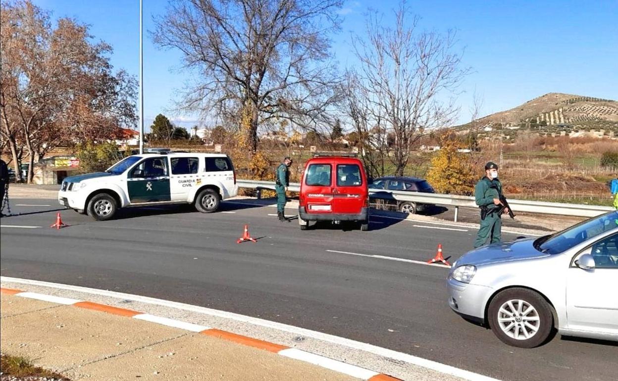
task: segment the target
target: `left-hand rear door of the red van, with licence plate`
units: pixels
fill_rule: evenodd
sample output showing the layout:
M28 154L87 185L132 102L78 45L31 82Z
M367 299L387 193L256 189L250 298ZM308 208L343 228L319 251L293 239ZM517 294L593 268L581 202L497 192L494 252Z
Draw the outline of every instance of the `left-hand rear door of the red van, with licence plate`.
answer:
M303 180L303 196L307 213L332 213L332 180L331 164L311 163L307 165Z

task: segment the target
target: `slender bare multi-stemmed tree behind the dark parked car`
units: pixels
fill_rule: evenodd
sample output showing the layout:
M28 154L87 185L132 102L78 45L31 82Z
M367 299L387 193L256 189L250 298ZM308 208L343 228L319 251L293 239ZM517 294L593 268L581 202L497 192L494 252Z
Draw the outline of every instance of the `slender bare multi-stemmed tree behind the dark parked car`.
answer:
M419 18L410 14L405 1L394 14L394 27L388 27L371 12L366 36L354 36L353 48L360 64L349 70L353 86L347 90L355 94L348 92L347 96L360 102L362 110L350 101L347 106L360 135L368 136L366 144L380 153L378 161L386 157L396 174L403 175L423 133L454 119L459 110L453 95L469 70L459 69L461 55L452 52L454 32L418 31ZM447 94L451 97L444 103L441 99ZM358 111L362 117L351 115ZM384 144L389 135L394 136L392 146Z

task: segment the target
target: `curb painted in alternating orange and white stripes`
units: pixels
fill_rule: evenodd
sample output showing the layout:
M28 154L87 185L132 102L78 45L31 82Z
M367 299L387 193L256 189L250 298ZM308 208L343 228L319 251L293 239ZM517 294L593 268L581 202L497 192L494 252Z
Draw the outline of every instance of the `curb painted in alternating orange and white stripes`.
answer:
M290 348L289 346L270 343L268 341L258 340L256 338L251 338L243 335L237 335L236 333L206 327L205 325L187 323L183 322L182 320L168 319L167 317L155 316L151 314L143 314L142 312L107 306L106 304L92 303L90 301L63 298L61 296L46 295L22 290L14 290L12 288L0 287L0 293L21 296L22 298L37 299L50 303L64 304L66 306L91 309L94 311L106 312L108 314L131 317L132 319L146 320L148 322L167 325L168 327L184 329L191 332L198 332L203 335L221 338L223 340L233 341L234 343L238 343L241 345L252 346L253 348L258 348L260 350L277 353L281 356L286 356L287 358L309 362L311 364L330 369L331 371L336 371L350 375L352 377L356 377L357 379L369 381L400 381L399 379L396 379L389 375L370 371L369 369L365 369L363 367L355 366L352 364L346 364L345 362L321 356L320 354L313 354L307 351L297 350L296 348Z

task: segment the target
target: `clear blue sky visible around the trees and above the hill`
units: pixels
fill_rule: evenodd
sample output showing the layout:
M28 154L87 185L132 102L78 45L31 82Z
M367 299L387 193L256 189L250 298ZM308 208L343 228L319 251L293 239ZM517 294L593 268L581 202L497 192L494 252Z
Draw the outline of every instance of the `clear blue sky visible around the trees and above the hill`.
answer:
M111 44L111 62L135 75L139 70L139 1L33 0L52 17L69 16L90 25L95 41ZM344 65L353 64L350 35L364 30L368 7L392 20L398 1L352 0L341 10L342 31L332 36L332 51ZM168 111L187 73L178 72L180 53L162 51L148 30L163 15L166 0L143 0L145 128L166 114L175 124L200 124L195 115ZM420 27L457 30L462 65L473 73L458 96L459 122L470 120L473 93L483 99L482 114L510 109L549 92L618 99L618 1L408 1L421 16Z

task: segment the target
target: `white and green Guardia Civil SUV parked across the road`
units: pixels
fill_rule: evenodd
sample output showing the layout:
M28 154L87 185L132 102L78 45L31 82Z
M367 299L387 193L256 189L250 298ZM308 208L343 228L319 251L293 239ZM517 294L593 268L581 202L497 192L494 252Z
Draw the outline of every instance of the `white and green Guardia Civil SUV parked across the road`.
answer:
M105 172L67 177L58 201L100 221L135 206L194 204L211 213L237 191L234 167L225 154L163 152L125 157Z

